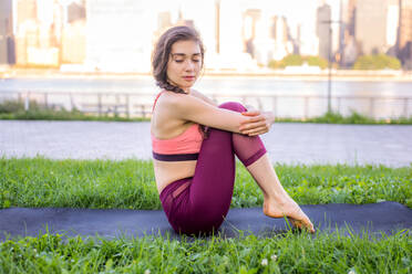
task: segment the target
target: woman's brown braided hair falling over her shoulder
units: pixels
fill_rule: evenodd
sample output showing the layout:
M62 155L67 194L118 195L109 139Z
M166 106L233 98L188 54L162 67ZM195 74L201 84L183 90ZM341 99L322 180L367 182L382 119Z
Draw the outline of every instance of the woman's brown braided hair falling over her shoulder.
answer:
M202 40L197 31L186 25L178 25L168 29L158 39L157 44L152 55L153 76L156 80L156 85L163 89L185 93L181 87L172 85L167 81L167 64L172 52L172 45L177 41L195 41L200 48L202 67L205 54Z

